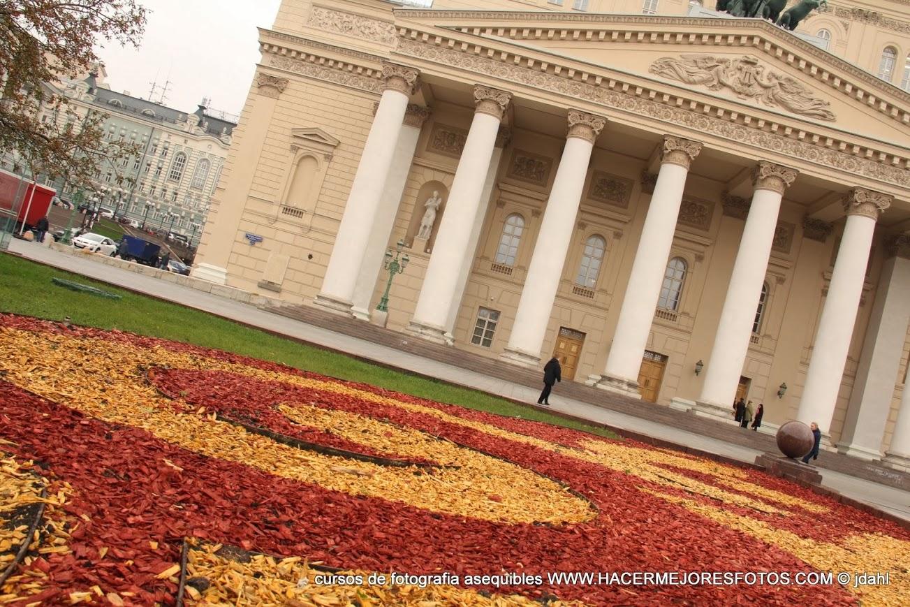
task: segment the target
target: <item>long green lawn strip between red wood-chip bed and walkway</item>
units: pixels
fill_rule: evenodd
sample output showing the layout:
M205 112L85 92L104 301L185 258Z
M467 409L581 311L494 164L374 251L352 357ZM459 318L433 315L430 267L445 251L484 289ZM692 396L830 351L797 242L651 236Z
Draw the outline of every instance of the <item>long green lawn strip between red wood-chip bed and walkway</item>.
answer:
M54 277L104 288L123 298L100 298L57 287L51 282ZM450 386L441 381L423 379L334 352L311 348L256 329L248 329L205 312L136 295L131 291L109 287L105 283L12 255L0 254L0 311L54 320L68 316L78 325L120 329L206 348L223 349L335 378L363 381L421 398L526 420L546 421L617 438L610 430L564 420L546 411L516 405L476 390Z

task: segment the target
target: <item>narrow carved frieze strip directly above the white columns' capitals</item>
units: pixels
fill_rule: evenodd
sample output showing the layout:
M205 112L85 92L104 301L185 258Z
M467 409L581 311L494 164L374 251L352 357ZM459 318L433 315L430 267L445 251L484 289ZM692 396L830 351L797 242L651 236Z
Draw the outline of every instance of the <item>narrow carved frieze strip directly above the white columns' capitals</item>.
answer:
M741 146L759 147L780 154L797 157L824 167L833 167L860 177L868 177L901 187L910 187L910 170L876 162L864 157L815 145L800 139L784 137L772 132L759 130L755 126L731 123L715 116L705 116L682 107L667 106L658 101L617 92L602 86L568 80L562 76L544 74L526 67L510 65L495 59L470 56L459 51L438 46L426 46L412 40L399 40L399 53L416 56L446 66L456 66L478 74L496 76L521 85L572 96L606 107L628 112L635 116L650 117L663 122L683 126L699 133L735 141Z

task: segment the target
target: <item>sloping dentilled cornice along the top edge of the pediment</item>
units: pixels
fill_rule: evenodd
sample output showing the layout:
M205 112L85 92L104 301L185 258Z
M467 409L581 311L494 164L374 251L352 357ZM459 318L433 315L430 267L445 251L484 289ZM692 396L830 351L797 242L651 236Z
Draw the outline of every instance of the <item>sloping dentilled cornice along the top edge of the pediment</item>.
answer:
M743 52L752 47L769 56L776 56L783 63L813 77L823 84L839 90L846 96L856 97L870 106L875 105L878 111L891 116L898 113L898 121L910 124L910 93L897 86L886 83L881 78L854 66L838 57L832 56L817 46L784 32L780 27L761 19L731 19L711 17L661 16L661 15L606 15L591 13L544 13L538 11L425 11L396 9L396 16L406 18L430 18L434 25L448 28L463 34L489 35L514 40L557 39L592 42L628 42L662 44L679 48L682 43L693 50L699 46L710 47L712 53L722 46L731 46ZM497 25L441 25L446 20L455 21L495 21ZM550 26L520 25L521 22L549 23ZM508 26L502 24L509 24ZM560 27L560 24L564 26ZM584 25L591 25L586 29ZM613 25L613 28L604 28ZM682 25L685 32L668 32L668 25ZM399 37L405 28L399 26ZM711 30L714 31L711 31ZM751 33L737 33L735 30L753 30ZM756 31L757 30L757 31ZM784 38L782 39L782 36ZM799 56L794 54L794 49ZM812 59L810 59L812 57ZM830 67L848 74L853 82L830 72ZM856 83L863 82L878 94L896 97L903 102L895 105L878 94L870 95ZM874 101L869 101L869 97ZM884 104L884 107L878 107ZM892 116L894 117L894 116Z

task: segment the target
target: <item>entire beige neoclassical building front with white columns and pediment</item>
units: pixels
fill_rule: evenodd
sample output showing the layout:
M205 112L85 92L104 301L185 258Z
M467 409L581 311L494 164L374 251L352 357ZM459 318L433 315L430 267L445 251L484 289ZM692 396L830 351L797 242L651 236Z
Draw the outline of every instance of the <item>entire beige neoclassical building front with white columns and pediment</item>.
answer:
M790 32L668 0L285 0L194 273L695 414L742 396L907 466L910 94L876 69L910 5L885 4Z

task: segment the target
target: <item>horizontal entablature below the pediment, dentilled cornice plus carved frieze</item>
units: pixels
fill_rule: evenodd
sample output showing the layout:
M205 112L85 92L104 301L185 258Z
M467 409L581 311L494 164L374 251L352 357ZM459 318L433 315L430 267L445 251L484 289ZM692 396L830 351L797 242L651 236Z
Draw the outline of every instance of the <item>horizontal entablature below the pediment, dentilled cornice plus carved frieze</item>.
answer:
M622 75L602 76L576 67L554 64L527 55L522 49L484 46L480 41L464 44L456 37L417 33L401 28L396 56L410 56L440 66L460 68L501 80L616 108L634 116L650 117L683 126L690 133L707 133L737 145L775 150L784 156L802 158L822 167L869 177L876 181L910 187L910 160L884 149L862 145L860 139L835 139L824 127L812 123L784 124L762 117L752 108L733 111L705 102L664 92L654 87L622 82ZM593 66L591 66L593 67ZM606 68L604 68L606 69ZM626 78L633 80L632 77ZM610 118L611 116L606 116ZM794 118L794 122L797 119ZM681 134L682 135L682 134Z

